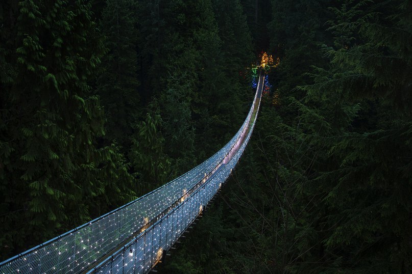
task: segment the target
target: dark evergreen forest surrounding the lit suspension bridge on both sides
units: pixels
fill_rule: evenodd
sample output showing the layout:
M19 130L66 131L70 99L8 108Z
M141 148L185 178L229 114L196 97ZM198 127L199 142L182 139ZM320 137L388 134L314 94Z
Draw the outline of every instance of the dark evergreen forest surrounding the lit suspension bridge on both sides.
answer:
M412 3L0 2L0 260L248 149L167 273L412 271ZM246 75L246 76L245 76Z

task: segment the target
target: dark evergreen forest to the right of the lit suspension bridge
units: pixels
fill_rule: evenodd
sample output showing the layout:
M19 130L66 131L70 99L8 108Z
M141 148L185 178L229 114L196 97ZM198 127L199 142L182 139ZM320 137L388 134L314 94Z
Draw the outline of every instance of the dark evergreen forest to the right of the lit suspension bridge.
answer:
M411 8L272 1L279 100L164 272L411 271Z

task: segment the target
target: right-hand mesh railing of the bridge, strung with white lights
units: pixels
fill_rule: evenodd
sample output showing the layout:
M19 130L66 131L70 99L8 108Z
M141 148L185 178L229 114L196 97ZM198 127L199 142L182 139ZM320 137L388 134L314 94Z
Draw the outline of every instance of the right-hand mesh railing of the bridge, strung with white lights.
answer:
M256 102L256 97L254 102ZM258 111L260 100L257 102ZM256 117L257 112L245 140L226 165L222 164L201 187L197 188L182 203L87 273L147 273L162 258L163 252L170 249L190 224L195 221L217 190L225 183L249 142Z

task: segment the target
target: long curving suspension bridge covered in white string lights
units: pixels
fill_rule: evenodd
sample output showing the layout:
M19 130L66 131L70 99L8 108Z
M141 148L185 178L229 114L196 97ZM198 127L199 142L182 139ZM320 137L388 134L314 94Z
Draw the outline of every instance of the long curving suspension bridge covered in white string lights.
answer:
M218 152L175 180L0 263L10 273L148 273L202 214L232 173L255 126L259 75L245 122Z

